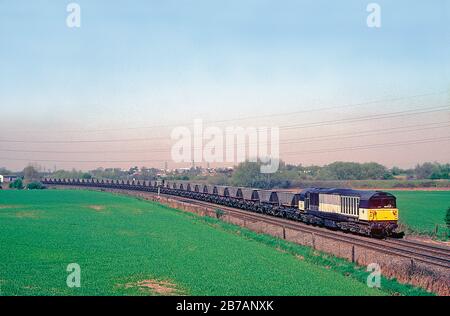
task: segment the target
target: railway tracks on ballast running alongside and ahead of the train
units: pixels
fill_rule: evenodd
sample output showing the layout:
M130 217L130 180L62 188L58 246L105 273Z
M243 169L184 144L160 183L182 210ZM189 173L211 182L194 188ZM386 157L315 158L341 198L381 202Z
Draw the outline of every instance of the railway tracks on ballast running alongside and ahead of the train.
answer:
M277 225L280 227L285 227L305 233L314 234L315 236L328 238L334 241L345 242L356 247L362 247L365 249L378 251L388 255L395 255L402 258L423 262L440 268L450 269L450 248L447 247L429 245L406 239L398 240L394 238L389 238L386 240L378 240L373 238L367 238L364 236L348 235L340 231L331 231L329 229L315 227L301 222L286 220L283 218L273 217L259 213L251 213L248 211L231 208L228 206L222 206L214 203L193 200L186 197L178 197L163 194L161 195L169 197L173 200L178 200L180 202L185 202L197 206L203 206L214 209L219 208L223 211L228 212L229 214L232 214L234 217L245 219L247 221L264 222L271 225Z

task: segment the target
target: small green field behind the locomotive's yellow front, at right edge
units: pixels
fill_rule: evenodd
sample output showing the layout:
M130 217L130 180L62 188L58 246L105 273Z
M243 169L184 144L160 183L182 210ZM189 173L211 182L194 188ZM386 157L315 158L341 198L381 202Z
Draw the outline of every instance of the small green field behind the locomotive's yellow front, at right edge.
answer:
M414 232L433 234L439 225L438 236L448 235L445 213L450 207L450 191L389 191L397 197L400 222Z

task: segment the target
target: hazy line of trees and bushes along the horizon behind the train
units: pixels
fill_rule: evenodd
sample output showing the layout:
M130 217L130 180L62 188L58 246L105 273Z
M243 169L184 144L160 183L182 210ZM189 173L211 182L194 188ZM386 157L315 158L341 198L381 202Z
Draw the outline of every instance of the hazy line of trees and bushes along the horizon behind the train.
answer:
M260 172L260 162L243 162L234 170L210 169L205 172L200 167L176 170L165 173L159 169L146 167L132 167L129 170L119 168L97 168L89 172L72 169L58 170L51 173L38 172L35 167L27 166L21 172L10 172L0 168L3 174L15 174L27 182L37 181L40 177L50 176L53 178L71 179L113 179L113 180L191 180L209 182L218 185L236 185L256 188L289 188L305 184L320 185L324 181L372 181L361 186L379 186L383 180L398 181L395 186L408 187L410 184L416 186L433 186L438 179L449 179L450 164L439 164L437 162L426 162L418 164L415 168L401 169L398 167L387 168L376 162L333 162L325 166L303 166L280 162L277 172L263 174ZM414 181L412 181L414 180ZM348 183L345 183L348 186Z

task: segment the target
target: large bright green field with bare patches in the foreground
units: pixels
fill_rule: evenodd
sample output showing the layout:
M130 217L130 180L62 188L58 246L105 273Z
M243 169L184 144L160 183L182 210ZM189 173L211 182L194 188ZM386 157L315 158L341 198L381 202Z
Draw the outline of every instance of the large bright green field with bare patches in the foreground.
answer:
M135 198L0 191L1 295L406 295L310 248ZM81 267L69 288L67 265Z

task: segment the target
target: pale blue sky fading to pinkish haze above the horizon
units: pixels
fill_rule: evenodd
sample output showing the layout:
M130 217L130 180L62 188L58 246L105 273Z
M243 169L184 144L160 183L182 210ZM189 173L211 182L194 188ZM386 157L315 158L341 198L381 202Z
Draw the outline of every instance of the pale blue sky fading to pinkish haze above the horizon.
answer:
M194 119L294 164L450 161L446 0L74 2L0 0L0 167L182 167Z

